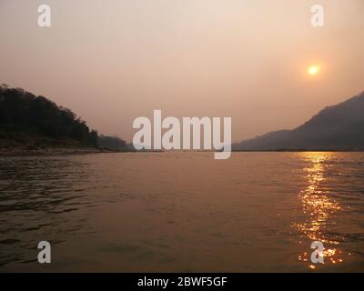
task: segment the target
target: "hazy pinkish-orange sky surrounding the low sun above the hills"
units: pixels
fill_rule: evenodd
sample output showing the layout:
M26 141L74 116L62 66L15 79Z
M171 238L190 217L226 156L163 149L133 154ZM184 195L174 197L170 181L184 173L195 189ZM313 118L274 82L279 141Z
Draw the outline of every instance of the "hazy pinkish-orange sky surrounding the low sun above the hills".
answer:
M315 4L323 28L310 25ZM364 90L363 0L0 0L0 37L0 83L129 141L154 109L231 116L239 141Z

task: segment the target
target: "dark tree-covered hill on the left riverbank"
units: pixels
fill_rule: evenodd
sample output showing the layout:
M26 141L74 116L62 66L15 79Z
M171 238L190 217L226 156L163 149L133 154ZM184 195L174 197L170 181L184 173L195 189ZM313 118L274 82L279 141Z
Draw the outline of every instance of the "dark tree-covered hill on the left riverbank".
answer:
M20 88L0 86L0 131L29 133L80 145L97 146L97 132L71 110L41 95Z

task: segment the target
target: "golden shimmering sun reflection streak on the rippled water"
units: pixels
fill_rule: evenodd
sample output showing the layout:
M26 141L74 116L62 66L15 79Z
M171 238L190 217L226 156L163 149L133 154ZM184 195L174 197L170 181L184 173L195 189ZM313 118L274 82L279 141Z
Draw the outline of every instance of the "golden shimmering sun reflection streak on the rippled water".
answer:
M302 223L295 223L294 226L310 241L320 241L324 244L325 265L342 263L342 251L339 249L339 244L343 237L329 235L330 225L335 224L332 216L341 210L341 206L330 196L329 190L322 186L327 179L325 168L331 155L334 154L303 153L302 155L309 163L309 166L304 169L308 187L299 195L305 218ZM316 269L318 266L310 264L310 255L310 252L299 254L298 260L307 262L308 268Z

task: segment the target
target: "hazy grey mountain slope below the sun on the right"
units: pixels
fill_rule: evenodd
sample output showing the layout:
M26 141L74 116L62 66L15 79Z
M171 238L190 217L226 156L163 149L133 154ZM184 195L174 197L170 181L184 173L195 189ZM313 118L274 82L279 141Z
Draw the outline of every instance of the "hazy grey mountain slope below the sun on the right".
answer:
M234 144L233 150L364 150L364 92L321 110L304 125Z

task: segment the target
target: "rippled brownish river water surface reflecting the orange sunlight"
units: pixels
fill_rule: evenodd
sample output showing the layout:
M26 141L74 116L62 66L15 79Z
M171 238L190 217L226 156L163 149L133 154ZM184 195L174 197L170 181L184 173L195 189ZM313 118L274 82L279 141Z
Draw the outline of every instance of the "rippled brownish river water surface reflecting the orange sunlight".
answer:
M363 272L364 153L2 157L0 271Z

